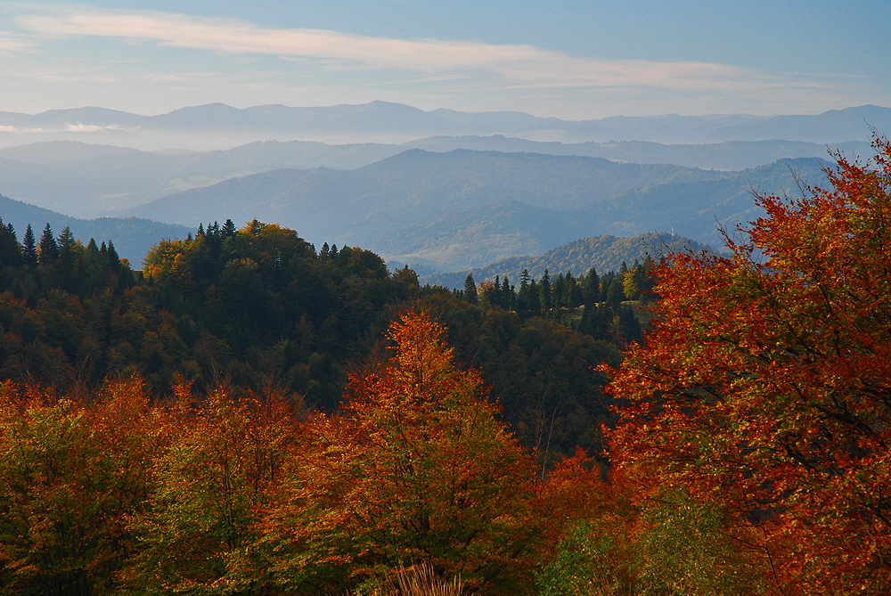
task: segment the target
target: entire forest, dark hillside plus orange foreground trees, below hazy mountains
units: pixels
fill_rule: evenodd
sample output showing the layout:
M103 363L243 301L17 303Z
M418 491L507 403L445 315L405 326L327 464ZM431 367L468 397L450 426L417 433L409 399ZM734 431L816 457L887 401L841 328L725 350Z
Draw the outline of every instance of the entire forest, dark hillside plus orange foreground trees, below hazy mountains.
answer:
M0 225L0 593L891 591L891 143L728 256L424 285ZM577 275L577 276L576 276Z

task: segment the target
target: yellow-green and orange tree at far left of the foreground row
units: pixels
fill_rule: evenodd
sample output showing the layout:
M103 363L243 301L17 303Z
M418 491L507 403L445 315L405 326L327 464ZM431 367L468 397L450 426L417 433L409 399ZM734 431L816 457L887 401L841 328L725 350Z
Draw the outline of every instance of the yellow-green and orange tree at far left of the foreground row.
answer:
M138 380L102 400L0 388L0 593L116 593L156 420Z

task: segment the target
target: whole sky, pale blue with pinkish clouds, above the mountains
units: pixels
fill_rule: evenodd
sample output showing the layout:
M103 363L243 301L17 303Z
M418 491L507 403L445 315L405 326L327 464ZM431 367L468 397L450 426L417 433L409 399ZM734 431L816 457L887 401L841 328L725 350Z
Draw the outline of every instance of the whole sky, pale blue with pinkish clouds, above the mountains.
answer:
M891 0L0 0L0 111L891 107Z

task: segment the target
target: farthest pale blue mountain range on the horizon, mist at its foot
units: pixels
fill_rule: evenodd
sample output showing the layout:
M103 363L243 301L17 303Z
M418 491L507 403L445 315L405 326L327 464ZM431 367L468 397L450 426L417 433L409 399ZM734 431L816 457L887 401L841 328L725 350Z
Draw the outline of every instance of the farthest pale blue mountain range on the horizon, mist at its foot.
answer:
M236 109L211 103L141 116L77 108L30 115L0 112L0 146L88 140L141 149L219 149L257 140L403 143L434 135L509 135L537 141L722 143L783 139L865 141L870 126L891 130L891 109L865 105L817 115L611 117L569 121L523 112L424 111L400 103Z

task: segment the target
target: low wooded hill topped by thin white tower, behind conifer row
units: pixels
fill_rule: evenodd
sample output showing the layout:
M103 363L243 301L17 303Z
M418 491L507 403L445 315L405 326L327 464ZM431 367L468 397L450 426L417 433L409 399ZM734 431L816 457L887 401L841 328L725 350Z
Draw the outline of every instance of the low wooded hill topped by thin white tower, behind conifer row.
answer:
M592 267L598 274L605 274L610 271L618 271L623 262L630 267L634 265L635 259L643 261L649 256L658 260L659 257L667 256L670 253L688 250L715 252L707 245L683 236L676 236L673 233L648 232L631 238L604 234L568 242L556 249L549 250L544 255L510 257L484 267L474 267L470 270L446 274L424 274L420 278L421 283L460 289L468 274L473 275L473 280L477 283L494 281L497 275L502 280L506 277L511 284L519 286L519 278L523 270L527 270L535 280L540 280L545 270L552 277L565 274L568 271L579 277L586 274Z

